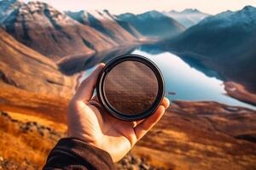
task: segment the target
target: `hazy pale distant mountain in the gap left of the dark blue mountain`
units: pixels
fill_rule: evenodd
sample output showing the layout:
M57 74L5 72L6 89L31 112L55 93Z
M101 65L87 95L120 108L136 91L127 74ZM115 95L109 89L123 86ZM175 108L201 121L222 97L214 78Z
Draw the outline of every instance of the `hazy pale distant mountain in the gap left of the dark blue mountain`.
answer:
M205 19L209 14L202 13L197 9L187 8L181 12L177 12L175 10L171 10L169 12L164 12L167 16L172 17L174 20L177 20L186 28L190 26L194 26L201 20Z

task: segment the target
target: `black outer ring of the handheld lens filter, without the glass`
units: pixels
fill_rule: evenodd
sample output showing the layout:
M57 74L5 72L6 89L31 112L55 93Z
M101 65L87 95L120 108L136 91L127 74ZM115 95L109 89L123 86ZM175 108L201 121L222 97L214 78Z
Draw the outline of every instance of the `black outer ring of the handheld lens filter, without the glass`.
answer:
M108 77L108 74L113 71L113 68L116 67L117 65L124 63L125 61L135 61L140 64L148 66L148 68L153 71L154 76L157 81L157 93L156 97L154 99L154 102L150 107L148 107L147 110L141 112L141 113L134 113L131 115L127 115L124 112L121 112L117 110L116 108L113 107L113 105L110 104L108 100L108 96L106 96L105 88L106 86L106 77ZM120 73L121 74L121 73ZM109 111L113 116L124 120L124 121L137 121L144 119L152 114L154 114L154 111L159 107L162 99L164 98L164 89L165 89L165 84L164 84L164 78L160 72L160 69L152 62L150 59L147 59L141 55L137 54L125 54L121 55L119 57L116 57L108 62L108 64L103 68L102 72L100 73L97 84L96 84L96 93L97 97L100 101L100 103L104 106L104 108ZM122 96L120 96L122 97ZM117 96L118 98L118 96Z

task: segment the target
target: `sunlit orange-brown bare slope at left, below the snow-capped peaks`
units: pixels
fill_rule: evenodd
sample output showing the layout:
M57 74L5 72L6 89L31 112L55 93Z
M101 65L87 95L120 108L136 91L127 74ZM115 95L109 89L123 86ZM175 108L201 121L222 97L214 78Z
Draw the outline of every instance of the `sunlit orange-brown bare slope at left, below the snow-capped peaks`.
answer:
M75 77L66 77L47 57L27 48L0 29L0 84L39 94L73 95Z

